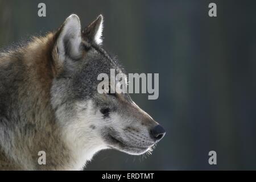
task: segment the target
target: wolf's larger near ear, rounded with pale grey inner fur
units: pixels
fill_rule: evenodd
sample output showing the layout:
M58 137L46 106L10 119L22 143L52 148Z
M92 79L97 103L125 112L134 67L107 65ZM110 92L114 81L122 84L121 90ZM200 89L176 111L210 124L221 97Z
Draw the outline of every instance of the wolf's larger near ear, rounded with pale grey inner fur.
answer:
M57 36L57 55L60 61L64 61L66 56L78 59L81 54L81 25L79 17L75 14L68 16L60 27Z

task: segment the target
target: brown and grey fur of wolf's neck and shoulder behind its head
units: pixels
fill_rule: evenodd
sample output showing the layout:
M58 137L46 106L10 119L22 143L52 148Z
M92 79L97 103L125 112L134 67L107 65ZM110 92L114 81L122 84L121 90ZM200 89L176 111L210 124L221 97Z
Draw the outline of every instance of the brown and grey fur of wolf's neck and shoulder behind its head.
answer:
M49 34L0 57L0 169L77 169L50 104L53 46ZM46 165L38 164L39 151Z

